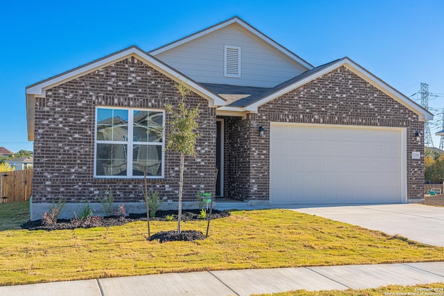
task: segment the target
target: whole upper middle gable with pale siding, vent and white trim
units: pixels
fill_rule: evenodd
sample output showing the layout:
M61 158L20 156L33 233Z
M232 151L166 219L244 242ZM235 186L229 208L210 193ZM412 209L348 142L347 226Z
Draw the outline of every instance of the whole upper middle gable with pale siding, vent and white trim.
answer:
M274 87L313 68L238 17L150 53L203 83Z

